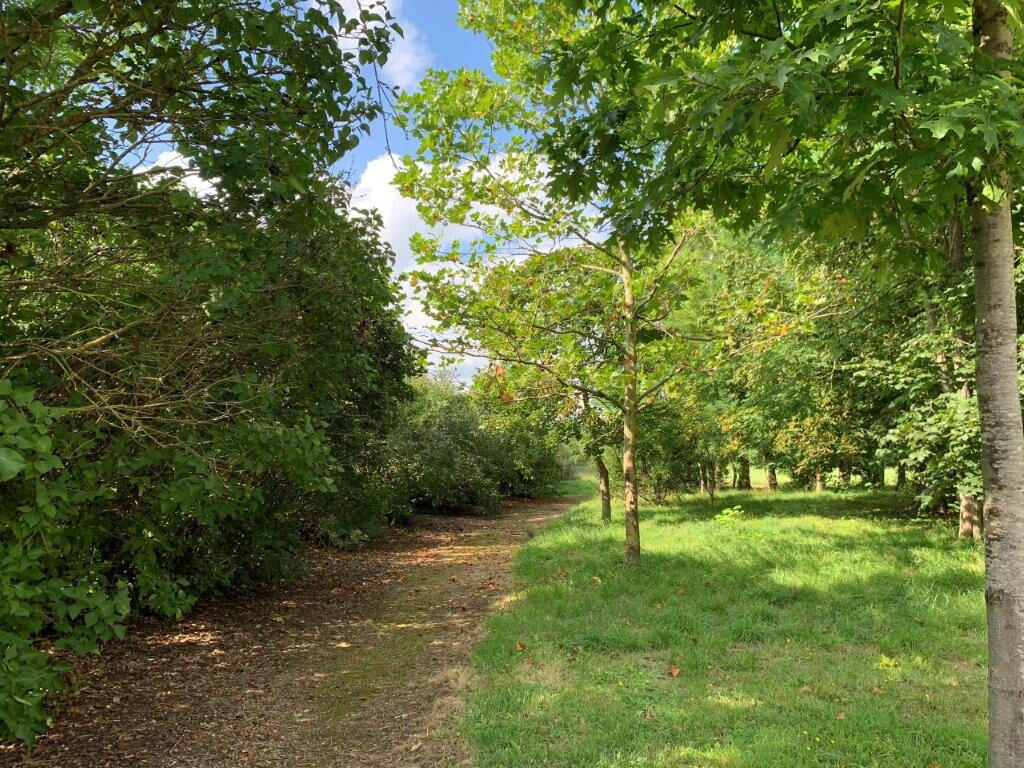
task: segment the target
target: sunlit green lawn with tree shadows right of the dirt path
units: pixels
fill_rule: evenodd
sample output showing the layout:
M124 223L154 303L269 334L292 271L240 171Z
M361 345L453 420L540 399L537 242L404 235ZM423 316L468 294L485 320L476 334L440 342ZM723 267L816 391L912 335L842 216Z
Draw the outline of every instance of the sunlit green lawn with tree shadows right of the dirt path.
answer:
M735 505L647 510L639 569L593 501L520 552L474 651L476 766L986 764L980 548L893 494Z

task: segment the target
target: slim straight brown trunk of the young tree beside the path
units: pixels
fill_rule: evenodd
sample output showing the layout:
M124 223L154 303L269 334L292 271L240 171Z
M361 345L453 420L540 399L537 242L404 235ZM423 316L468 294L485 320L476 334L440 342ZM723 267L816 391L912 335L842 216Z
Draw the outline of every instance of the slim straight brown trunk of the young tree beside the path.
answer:
M637 500L637 335L636 307L633 304L633 257L622 251L623 314L626 331L626 355L623 360L623 482L626 485L627 564L640 562L640 509Z

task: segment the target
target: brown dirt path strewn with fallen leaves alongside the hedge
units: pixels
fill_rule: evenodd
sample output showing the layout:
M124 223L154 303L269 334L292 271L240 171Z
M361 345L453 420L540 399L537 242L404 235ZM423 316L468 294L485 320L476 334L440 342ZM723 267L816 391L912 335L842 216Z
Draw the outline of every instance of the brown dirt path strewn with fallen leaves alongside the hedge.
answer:
M141 622L82 665L31 755L0 745L0 766L465 764L445 726L469 650L515 547L569 506L421 517L381 546L313 553L292 587Z

